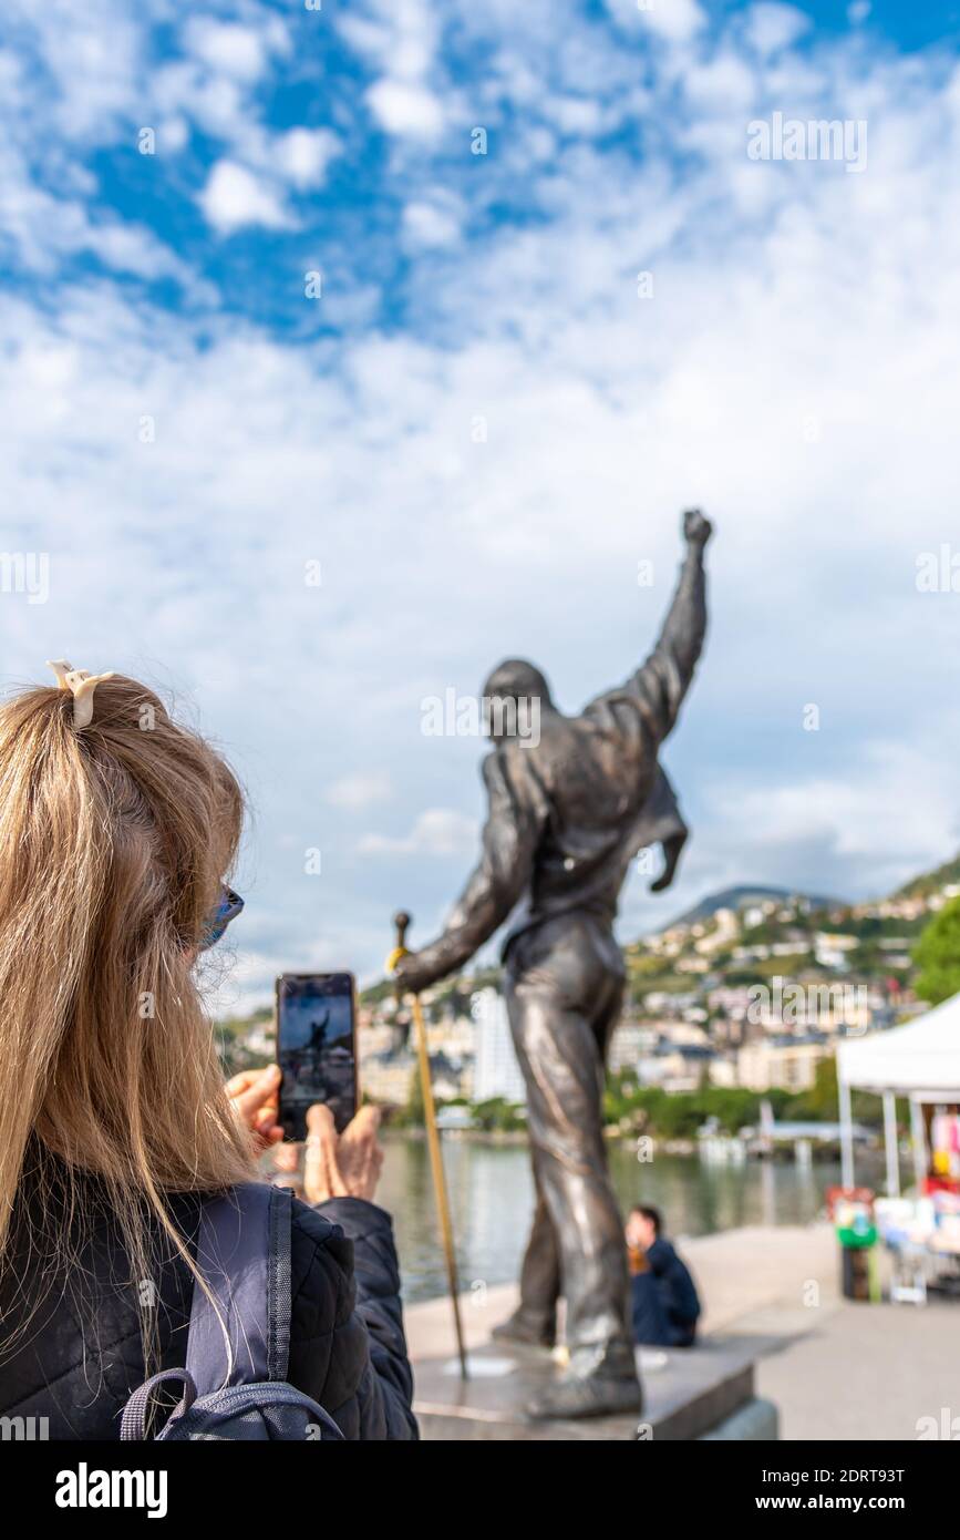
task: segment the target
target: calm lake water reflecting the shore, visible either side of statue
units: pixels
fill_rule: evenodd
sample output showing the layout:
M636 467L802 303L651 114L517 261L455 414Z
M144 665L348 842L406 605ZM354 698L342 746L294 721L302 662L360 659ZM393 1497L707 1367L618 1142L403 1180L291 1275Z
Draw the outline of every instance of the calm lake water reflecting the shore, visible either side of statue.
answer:
M389 1138L377 1201L394 1215L403 1294L429 1300L446 1292L443 1254L426 1144ZM806 1224L823 1212L823 1194L840 1181L838 1164L795 1166L749 1161L712 1166L698 1155L655 1155L638 1164L629 1144L609 1150L622 1207L652 1203L669 1234L709 1235L740 1224ZM509 1283L520 1258L534 1204L526 1146L443 1140L460 1286ZM871 1180L863 1157L863 1180ZM858 1172L860 1175L860 1172Z

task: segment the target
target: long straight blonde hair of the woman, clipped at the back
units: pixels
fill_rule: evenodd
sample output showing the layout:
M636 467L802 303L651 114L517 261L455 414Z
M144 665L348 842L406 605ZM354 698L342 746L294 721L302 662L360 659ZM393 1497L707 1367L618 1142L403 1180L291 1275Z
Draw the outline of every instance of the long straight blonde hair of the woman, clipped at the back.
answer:
M25 1280L11 1277L22 1221L40 1272L63 1266L65 1226L89 1227L89 1173L134 1280L146 1280L158 1234L198 1277L168 1195L222 1190L254 1170L192 976L235 858L240 787L135 679L103 679L82 730L72 708L71 693L52 687L0 707L5 1297L11 1284L23 1294ZM152 1317L142 1311L148 1361ZM9 1344L0 1321L0 1346Z

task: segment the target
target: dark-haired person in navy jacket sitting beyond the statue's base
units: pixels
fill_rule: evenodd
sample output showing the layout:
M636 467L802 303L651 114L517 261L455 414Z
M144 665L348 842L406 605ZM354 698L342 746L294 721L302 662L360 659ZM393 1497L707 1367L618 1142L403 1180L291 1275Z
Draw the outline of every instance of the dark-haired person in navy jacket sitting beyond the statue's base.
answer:
M654 1348L691 1348L697 1335L700 1300L688 1267L660 1230L658 1209L631 1209L626 1244L634 1341Z

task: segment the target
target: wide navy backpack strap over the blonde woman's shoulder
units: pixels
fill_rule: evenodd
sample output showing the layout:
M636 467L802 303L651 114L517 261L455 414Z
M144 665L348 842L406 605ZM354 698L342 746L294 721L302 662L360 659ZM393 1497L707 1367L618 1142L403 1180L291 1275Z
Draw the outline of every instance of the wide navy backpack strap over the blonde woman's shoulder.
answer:
M197 1266L212 1301L194 1281L186 1340L186 1371L198 1395L286 1380L291 1223L286 1187L243 1183L203 1201Z

